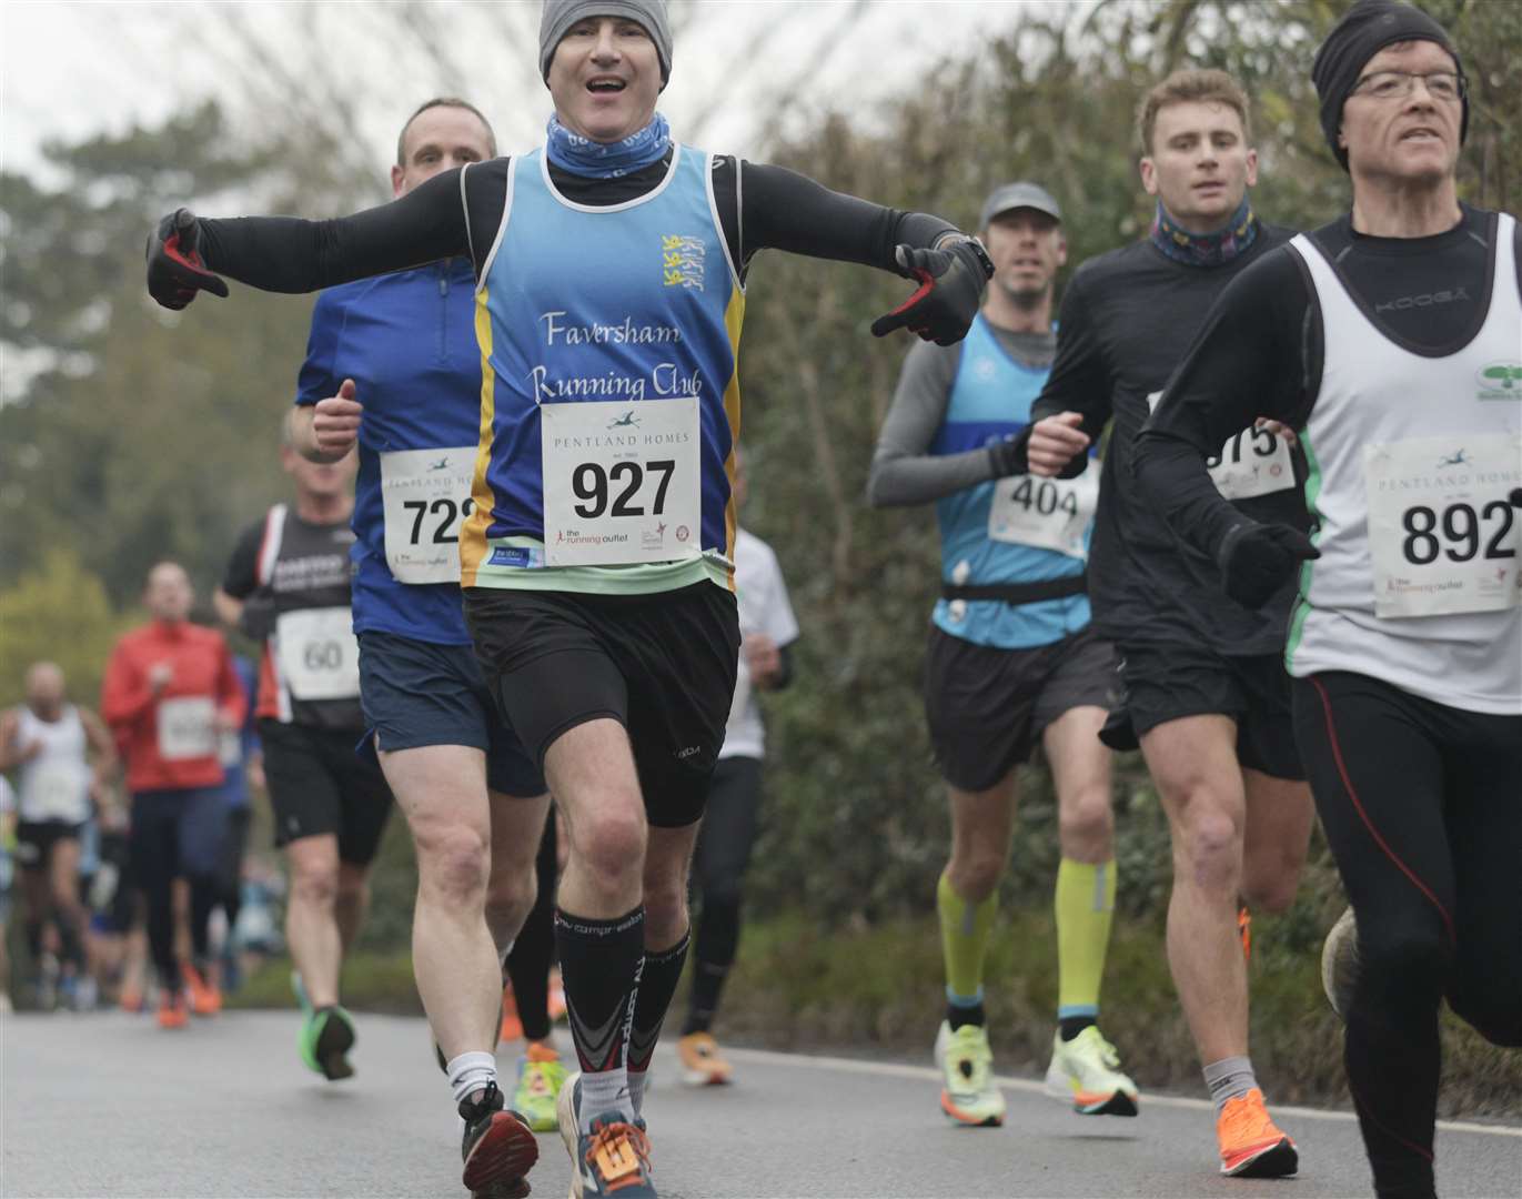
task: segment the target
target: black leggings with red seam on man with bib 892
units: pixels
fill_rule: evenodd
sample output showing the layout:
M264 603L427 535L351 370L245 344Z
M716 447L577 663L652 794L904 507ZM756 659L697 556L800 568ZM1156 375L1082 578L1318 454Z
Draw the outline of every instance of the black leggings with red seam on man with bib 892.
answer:
M1432 1196L1441 1000L1522 1045L1522 717L1329 673L1295 680L1295 738L1358 918L1344 1061L1374 1190Z

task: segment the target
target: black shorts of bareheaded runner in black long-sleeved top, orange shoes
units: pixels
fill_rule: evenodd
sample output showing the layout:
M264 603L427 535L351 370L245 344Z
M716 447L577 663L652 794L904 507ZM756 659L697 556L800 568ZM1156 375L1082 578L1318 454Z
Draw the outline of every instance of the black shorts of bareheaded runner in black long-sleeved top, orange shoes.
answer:
M1224 715L1237 726L1237 761L1275 779L1306 778L1295 746L1283 654L1227 657L1204 642L1120 645L1125 695L1102 738L1135 749L1137 738L1184 717Z

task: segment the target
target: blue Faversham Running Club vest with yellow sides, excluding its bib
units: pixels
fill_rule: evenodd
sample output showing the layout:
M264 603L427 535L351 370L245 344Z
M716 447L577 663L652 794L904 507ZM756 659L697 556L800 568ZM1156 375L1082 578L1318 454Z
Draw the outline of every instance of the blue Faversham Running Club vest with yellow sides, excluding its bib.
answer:
M624 595L702 580L732 586L743 320L708 154L674 146L659 187L609 207L562 196L542 149L514 157L476 291L481 428L461 583ZM700 440L702 517L691 552L548 566L540 405L616 400L639 412L683 396L697 399Z

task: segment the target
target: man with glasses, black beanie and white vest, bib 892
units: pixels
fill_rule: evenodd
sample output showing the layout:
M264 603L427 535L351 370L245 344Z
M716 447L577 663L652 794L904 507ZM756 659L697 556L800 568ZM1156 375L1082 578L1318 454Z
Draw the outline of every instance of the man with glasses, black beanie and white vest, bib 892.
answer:
M1425 12L1356 5L1312 78L1352 211L1221 295L1135 458L1243 603L1298 574L1295 735L1358 921L1348 1089L1408 1199L1435 1193L1441 1000L1522 1045L1522 234L1458 201L1467 85ZM1313 545L1204 478L1260 415L1300 431Z

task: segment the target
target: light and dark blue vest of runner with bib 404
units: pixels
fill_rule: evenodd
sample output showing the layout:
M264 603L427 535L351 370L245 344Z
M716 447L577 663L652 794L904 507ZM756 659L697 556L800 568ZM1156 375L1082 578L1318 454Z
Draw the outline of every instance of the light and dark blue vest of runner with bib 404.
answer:
M931 453L963 453L1001 441L1030 423L1030 405L1050 370L1009 356L979 313L962 342L941 431ZM989 536L994 482L980 482L936 502L941 577L948 583L1041 583L1081 574L1084 560L1056 549L998 542ZM1093 523L1093 522L1090 522ZM1084 542L1088 542L1088 533ZM997 600L941 600L931 619L954 638L1000 650L1050 645L1088 625L1088 596L1012 606Z

